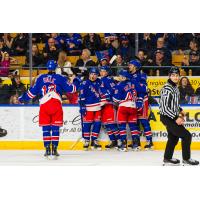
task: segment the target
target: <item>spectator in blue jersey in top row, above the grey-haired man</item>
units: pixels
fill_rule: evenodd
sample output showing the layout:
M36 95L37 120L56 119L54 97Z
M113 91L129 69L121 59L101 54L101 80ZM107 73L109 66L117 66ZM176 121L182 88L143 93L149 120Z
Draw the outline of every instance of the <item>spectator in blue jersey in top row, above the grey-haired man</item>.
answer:
M79 56L82 51L82 38L78 33L69 33L65 40L67 55Z

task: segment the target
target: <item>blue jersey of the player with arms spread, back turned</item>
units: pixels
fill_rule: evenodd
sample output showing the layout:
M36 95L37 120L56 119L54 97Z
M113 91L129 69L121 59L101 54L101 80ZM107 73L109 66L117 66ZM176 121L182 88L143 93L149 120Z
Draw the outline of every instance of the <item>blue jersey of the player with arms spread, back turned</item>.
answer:
M76 92L76 86L67 81L67 78L59 74L42 74L36 79L35 84L19 99L29 101L39 95L40 104L44 104L52 98L62 100L63 92Z

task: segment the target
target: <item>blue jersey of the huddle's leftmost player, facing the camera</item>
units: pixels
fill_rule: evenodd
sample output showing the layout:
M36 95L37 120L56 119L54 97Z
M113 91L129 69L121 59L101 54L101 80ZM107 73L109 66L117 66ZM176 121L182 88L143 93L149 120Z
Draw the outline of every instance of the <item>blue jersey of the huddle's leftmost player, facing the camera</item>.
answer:
M102 102L106 102L109 94L102 87L101 80L86 80L80 86L80 104L88 111L101 110Z

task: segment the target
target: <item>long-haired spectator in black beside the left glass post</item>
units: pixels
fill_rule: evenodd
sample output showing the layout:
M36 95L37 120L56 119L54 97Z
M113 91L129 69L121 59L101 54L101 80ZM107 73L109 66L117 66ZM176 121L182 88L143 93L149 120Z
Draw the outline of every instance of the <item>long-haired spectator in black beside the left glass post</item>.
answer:
M33 56L33 67L40 68L42 64L44 64L44 57L39 52L37 44L32 45L32 56ZM29 62L28 62L29 63ZM41 66L42 67L42 66Z

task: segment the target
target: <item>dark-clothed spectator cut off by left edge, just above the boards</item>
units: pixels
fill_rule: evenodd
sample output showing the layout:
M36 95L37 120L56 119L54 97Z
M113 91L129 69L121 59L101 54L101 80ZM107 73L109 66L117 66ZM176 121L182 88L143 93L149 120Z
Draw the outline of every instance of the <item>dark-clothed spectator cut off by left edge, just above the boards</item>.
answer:
M9 104L10 88L8 85L3 84L3 80L0 78L0 104Z

